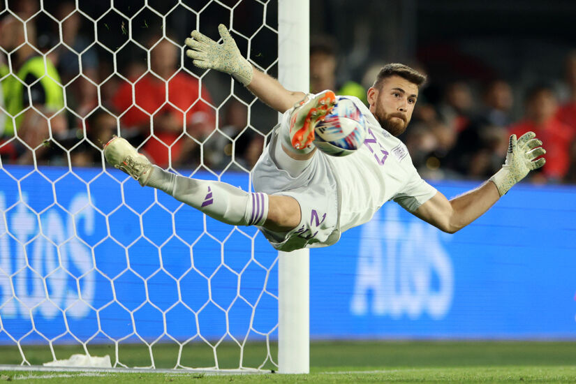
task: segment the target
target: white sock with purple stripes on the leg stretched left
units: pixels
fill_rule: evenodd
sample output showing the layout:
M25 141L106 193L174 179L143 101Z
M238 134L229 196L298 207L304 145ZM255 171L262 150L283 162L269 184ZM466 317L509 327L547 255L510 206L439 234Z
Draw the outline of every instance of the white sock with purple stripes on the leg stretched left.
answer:
M248 193L223 182L177 176L156 165L147 186L232 226L262 226L268 216L266 193Z

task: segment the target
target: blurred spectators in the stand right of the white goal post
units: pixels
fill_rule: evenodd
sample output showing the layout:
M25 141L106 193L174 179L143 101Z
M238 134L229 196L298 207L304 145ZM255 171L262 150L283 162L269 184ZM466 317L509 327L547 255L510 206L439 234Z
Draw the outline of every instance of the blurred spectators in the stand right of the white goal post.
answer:
M369 68L360 83L336 76L337 45L323 36L311 41L311 91L337 89L366 102L381 64ZM409 63L408 63L409 64ZM414 65L427 73L426 68ZM424 84L411 124L401 136L420 175L426 179L486 179L505 161L511 134L536 133L547 150L545 167L531 172L531 182L576 183L576 51L566 56L561 87L539 82L515 99L512 83L494 78L478 84L458 79ZM433 79L431 79L434 81ZM554 85L553 85L554 84ZM561 88L561 89L558 89ZM559 97L563 91L566 96ZM522 115L513 111L522 104Z

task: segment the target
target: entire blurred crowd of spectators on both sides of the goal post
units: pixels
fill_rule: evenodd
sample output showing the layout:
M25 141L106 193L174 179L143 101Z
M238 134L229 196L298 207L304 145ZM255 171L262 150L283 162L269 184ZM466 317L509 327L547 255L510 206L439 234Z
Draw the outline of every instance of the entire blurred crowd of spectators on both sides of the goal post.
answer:
M0 20L3 164L102 167L101 148L112 135L127 138L164 168L250 170L256 163L274 121L255 129L249 105L239 98L216 108L211 95L217 90L182 68L182 45L163 37L169 31L142 34L149 54L118 73L112 56L92 49L73 2L59 2L54 17L61 22L54 30L35 24L37 12L36 1L21 0L17 17ZM333 39L312 38L310 53L311 92L334 89L366 102L381 64L357 82L343 81ZM485 179L503 164L510 134L534 131L547 149L547 164L531 181L576 183L576 52L566 55L563 79L552 80L520 92L505 78L424 86L401 138L422 177Z

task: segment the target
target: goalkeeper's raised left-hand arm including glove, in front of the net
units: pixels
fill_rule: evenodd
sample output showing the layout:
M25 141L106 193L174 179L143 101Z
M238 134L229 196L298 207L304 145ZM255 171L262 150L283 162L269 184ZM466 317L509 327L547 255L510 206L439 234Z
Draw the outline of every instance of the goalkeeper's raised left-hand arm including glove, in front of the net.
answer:
M186 45L190 48L186 50L186 56L193 60L195 66L229 73L278 112L286 112L304 98L304 93L288 91L278 80L253 68L240 53L224 24L218 26L218 31L222 44L196 30L192 31L191 38L186 38Z

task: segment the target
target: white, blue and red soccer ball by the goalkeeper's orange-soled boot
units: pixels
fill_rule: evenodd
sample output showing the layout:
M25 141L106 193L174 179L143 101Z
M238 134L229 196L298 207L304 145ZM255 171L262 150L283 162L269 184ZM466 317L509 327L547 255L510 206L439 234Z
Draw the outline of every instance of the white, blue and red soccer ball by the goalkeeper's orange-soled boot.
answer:
M314 145L330 156L347 156L360 148L366 135L362 112L349 98L339 97L336 105L316 124Z

